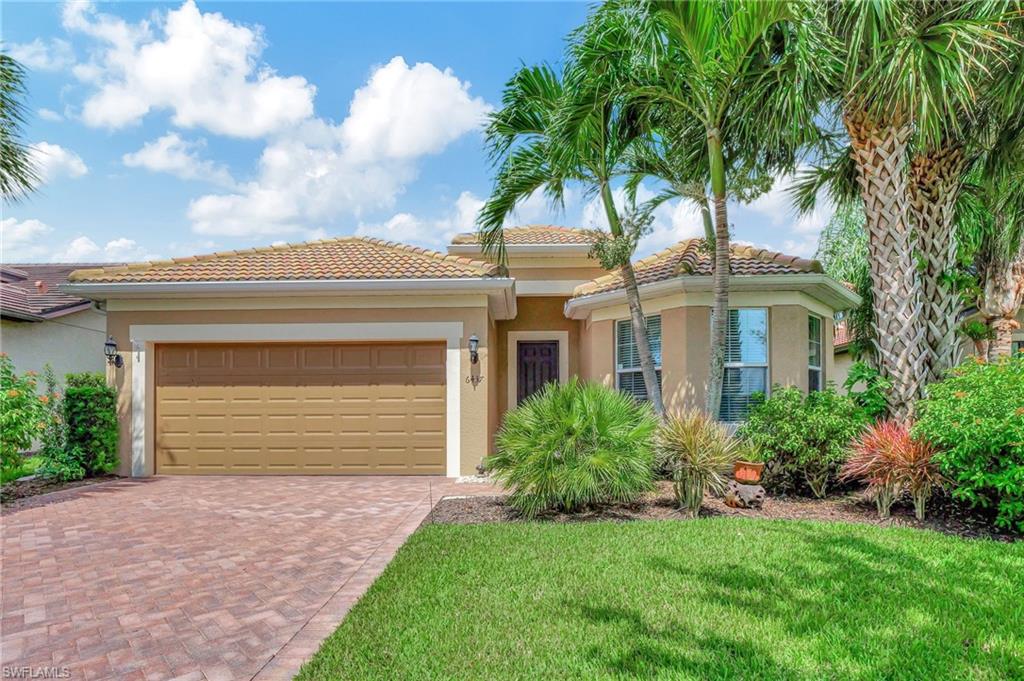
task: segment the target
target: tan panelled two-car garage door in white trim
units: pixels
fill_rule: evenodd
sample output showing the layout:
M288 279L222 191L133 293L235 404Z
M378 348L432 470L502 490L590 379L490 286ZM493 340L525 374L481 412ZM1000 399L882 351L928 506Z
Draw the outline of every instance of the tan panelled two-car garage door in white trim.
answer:
M158 473L444 474L443 343L158 345Z

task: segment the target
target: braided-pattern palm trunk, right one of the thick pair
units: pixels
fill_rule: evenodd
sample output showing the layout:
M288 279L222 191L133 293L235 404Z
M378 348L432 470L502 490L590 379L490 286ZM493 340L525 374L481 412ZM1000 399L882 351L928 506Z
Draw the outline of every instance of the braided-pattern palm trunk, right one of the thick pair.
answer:
M958 360L956 313L959 294L949 274L956 265L953 208L967 162L958 146L942 146L910 162L910 212L922 259L921 322L924 327L923 387L938 381Z

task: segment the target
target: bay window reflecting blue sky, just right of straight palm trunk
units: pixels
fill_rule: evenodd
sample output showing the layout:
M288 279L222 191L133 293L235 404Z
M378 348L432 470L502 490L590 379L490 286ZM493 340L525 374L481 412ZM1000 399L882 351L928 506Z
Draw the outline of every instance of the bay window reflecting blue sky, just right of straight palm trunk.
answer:
M758 392L768 392L768 310L730 309L719 420L744 420Z

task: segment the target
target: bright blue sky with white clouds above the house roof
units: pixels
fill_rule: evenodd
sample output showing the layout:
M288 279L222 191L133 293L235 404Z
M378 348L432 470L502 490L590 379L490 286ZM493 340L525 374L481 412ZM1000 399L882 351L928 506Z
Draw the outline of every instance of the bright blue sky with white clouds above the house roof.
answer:
M349 235L443 250L473 229L481 134L520 65L559 65L583 3L18 3L3 49L28 70L42 184L3 204L4 262L121 262ZM790 178L730 206L734 239L811 256L830 207ZM644 184L640 197L657 185ZM622 200L622 194L618 195ZM601 227L584 187L509 224ZM702 235L662 206L639 256Z

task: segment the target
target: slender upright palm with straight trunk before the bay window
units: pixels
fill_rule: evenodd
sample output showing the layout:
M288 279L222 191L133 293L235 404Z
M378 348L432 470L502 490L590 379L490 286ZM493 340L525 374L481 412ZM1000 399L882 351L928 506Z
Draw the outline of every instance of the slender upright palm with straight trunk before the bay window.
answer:
M660 110L653 118L673 121L671 130L699 131L700 150L690 157L696 172L687 174L708 178L714 206L712 415L722 398L728 326L727 200L737 179L729 151L746 160L740 166L786 172L796 153L817 141L814 117L831 54L814 35L816 11L786 0L612 0L591 16L579 50L588 68L630 65L638 105Z

